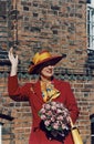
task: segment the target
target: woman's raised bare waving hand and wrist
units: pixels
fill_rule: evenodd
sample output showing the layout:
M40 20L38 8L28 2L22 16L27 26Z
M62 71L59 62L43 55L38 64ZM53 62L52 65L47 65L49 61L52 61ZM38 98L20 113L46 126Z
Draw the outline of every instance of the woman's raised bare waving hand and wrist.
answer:
M17 74L17 70L18 70L18 55L13 55L13 48L11 48L9 50L9 60L11 62L11 72L10 75L13 76Z

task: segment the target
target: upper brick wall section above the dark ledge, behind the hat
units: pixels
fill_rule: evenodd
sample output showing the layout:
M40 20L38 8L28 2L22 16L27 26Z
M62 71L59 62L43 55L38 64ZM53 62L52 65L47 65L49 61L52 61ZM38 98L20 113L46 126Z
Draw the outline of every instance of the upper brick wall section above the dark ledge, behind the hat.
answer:
M41 49L49 49L53 53L67 54L61 63L63 66L82 69L86 56L85 10L84 0L19 0L18 51L22 62L29 62Z

